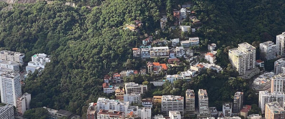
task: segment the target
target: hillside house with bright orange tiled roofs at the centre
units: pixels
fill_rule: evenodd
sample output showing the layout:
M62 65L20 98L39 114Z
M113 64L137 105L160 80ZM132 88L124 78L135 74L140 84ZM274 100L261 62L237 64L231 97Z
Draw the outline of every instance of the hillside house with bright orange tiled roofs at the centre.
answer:
M148 73L150 74L153 72L154 74L158 74L159 72L163 71L166 72L167 66L166 64L160 64L159 62L147 62L146 64L148 68Z

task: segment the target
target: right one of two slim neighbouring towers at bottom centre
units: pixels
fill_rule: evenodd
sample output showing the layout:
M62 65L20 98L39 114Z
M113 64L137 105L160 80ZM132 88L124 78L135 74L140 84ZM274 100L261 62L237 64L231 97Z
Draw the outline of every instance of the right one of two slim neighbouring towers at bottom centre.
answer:
M206 90L198 91L198 110L200 115L209 114L208 94Z

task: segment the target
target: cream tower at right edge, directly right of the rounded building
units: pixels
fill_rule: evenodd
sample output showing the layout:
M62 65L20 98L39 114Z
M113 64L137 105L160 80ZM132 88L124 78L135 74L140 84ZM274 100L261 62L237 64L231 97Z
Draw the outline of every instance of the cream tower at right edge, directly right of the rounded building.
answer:
M271 78L271 92L285 91L285 74L278 74Z

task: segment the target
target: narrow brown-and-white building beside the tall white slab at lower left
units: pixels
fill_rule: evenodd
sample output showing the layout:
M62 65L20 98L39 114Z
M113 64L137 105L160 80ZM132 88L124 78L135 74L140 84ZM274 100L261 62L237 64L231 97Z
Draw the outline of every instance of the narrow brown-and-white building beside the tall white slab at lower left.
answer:
M17 99L17 110L19 116L23 116L23 114L30 109L30 102L31 102L31 94L27 92L23 94L23 96Z

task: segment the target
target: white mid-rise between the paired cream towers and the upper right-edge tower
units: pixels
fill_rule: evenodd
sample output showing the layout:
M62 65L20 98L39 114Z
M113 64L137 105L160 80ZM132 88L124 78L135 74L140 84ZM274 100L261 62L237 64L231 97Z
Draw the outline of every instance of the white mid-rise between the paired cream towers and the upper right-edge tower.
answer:
M259 44L259 49L266 54L266 60L276 58L276 45L272 41L267 41Z

